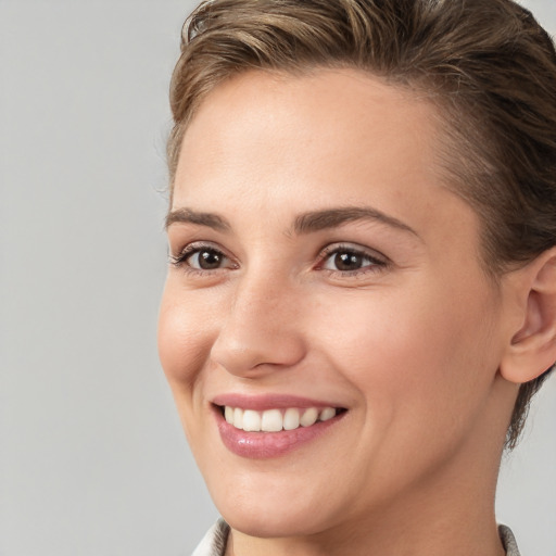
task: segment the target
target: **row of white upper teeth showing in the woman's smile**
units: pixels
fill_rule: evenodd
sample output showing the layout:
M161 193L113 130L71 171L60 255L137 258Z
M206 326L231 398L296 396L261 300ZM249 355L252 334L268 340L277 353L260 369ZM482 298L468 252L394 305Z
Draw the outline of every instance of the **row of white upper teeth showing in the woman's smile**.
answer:
M289 407L288 409L267 409L266 412L241 409L228 405L224 407L226 421L247 432L278 432L282 429L293 430L300 426L311 427L317 420L327 421L334 415L336 409L333 407L325 407L324 409Z

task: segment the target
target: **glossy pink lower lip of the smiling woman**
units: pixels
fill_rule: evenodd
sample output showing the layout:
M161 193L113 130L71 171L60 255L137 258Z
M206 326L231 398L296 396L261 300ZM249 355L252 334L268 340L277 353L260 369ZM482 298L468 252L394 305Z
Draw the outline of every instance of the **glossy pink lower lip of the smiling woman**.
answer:
M326 433L345 412L327 421L317 421L311 427L299 427L280 432L245 432L226 421L219 408L216 408L218 432L224 445L233 454L251 459L269 459L283 456L298 450L312 440Z

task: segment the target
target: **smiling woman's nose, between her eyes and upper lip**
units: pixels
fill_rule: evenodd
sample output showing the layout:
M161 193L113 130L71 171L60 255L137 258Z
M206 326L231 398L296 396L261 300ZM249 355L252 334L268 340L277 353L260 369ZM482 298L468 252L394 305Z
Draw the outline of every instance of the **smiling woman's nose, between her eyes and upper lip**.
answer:
M300 298L271 279L245 280L231 295L211 355L229 372L255 378L305 356Z

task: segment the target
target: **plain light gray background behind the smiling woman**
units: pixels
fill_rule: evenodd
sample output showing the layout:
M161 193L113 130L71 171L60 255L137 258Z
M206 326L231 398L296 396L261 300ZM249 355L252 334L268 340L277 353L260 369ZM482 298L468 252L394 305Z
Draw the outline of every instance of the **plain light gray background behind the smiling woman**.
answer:
M556 2L529 0L556 31ZM189 0L0 0L0 554L188 555L215 509L155 346ZM556 377L498 516L556 556Z

